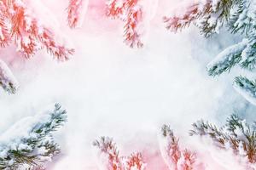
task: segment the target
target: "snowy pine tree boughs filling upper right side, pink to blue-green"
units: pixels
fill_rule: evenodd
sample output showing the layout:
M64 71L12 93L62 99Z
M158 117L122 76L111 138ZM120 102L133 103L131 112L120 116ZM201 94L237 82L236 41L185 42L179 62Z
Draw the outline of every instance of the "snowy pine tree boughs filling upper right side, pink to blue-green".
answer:
M235 65L252 71L256 66L256 3L253 0L198 0L186 4L182 14L165 17L166 27L171 31L182 30L194 23L201 33L210 37L220 28L228 27L230 33L239 34L241 42L225 48L207 65L210 76L218 76L230 71ZM247 77L236 77L236 90L256 105L255 87Z

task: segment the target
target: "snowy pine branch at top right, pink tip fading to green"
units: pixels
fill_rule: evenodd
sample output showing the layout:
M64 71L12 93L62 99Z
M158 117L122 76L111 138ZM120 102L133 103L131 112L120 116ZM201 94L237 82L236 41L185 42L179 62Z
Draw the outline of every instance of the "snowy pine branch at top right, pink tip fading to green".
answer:
M173 11L174 14L164 17L166 28L178 31L194 23L202 34L209 37L213 33L218 33L224 21L229 18L233 3L233 0L186 1Z

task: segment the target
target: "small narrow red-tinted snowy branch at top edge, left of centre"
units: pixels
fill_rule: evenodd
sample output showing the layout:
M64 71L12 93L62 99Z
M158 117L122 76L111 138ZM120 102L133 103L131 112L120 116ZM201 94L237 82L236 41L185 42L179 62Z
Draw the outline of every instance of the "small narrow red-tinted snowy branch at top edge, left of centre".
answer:
M82 26L88 1L89 0L69 0L67 7L68 26L71 28Z

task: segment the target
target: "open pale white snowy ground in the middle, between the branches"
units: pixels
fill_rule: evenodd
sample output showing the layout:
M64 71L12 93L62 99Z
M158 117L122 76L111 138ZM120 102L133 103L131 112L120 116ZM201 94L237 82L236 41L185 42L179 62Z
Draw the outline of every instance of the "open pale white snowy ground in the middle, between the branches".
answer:
M97 169L91 143L107 135L123 155L142 151L148 170L164 170L156 136L163 123L189 144L192 122L201 118L224 122L234 110L245 116L253 111L231 88L232 74L207 76L207 62L228 44L224 38L219 40L223 44L216 44L193 30L175 35L156 17L145 47L131 49L122 43L120 23L101 16L101 2L90 3L83 28L74 31L65 26L61 11L67 2L46 4L63 22L62 30L76 54L58 63L44 52L29 60L14 60L17 54L12 48L1 50L20 81L20 90L15 95L1 91L0 132L45 105L61 103L68 122L56 134L62 154L49 169Z

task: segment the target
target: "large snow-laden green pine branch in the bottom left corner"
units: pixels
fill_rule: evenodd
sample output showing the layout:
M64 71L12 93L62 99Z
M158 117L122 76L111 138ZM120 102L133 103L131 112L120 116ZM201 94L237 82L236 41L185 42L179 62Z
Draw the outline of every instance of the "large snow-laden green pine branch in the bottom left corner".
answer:
M0 169L44 169L60 152L52 133L67 121L67 112L56 104L53 111L16 122L0 136Z

